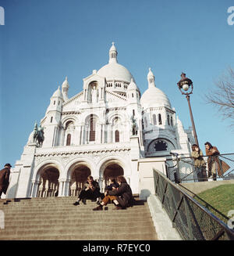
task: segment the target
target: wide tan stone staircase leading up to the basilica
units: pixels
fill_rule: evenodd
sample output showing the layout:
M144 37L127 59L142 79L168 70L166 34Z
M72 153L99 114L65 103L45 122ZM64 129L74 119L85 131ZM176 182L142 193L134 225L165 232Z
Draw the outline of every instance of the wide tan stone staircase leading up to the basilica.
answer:
M92 211L95 202L74 206L76 197L0 199L0 240L158 240L147 203ZM107 210L105 210L105 208Z

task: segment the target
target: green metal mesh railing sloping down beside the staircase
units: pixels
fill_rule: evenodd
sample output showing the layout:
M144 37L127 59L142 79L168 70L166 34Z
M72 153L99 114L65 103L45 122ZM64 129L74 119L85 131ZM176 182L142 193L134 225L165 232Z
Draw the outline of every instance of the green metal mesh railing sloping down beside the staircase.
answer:
M234 240L234 230L154 170L155 194L184 240Z

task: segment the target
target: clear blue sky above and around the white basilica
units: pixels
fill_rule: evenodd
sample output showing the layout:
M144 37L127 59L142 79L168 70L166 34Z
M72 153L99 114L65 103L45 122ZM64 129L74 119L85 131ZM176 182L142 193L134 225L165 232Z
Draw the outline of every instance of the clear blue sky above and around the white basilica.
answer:
M234 153L230 121L204 102L204 94L234 68L234 25L227 23L233 1L0 0L0 164L20 160L34 121L41 121L53 92L68 76L69 97L83 78L108 63L115 41L118 61L147 89L148 67L158 88L191 126L186 98L176 83L193 80L191 105L200 147L204 142Z

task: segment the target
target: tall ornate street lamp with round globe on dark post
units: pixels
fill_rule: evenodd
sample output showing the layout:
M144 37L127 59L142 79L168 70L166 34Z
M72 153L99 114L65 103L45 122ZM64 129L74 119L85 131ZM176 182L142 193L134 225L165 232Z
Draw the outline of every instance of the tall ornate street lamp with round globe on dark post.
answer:
M198 140L197 140L197 132L196 132L195 124L194 124L194 121L193 121L193 113L192 113L192 109L191 109L191 105L190 105L190 94L193 93L193 81L190 80L190 78L186 78L186 74L184 74L182 72L181 79L177 83L177 85L179 87L179 91L183 95L186 96L186 99L188 101L189 109L190 109L190 118L191 118L192 127L193 127L193 135L194 135L194 139L195 139L195 142L196 142L197 146L199 146Z

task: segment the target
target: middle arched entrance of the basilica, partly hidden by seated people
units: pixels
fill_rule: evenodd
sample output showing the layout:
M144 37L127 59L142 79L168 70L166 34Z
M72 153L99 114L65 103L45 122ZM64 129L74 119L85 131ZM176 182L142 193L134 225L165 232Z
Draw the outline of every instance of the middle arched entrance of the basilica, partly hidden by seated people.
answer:
M80 190L83 189L83 185L90 174L90 168L88 168L85 163L75 165L71 172L69 196L75 197L79 195Z

